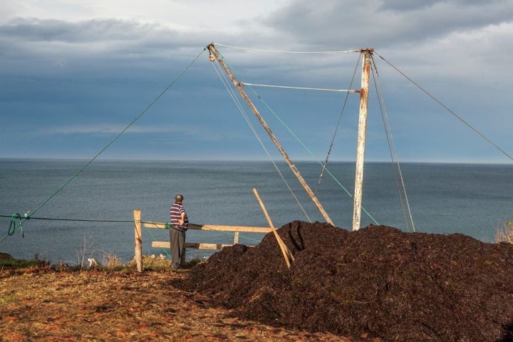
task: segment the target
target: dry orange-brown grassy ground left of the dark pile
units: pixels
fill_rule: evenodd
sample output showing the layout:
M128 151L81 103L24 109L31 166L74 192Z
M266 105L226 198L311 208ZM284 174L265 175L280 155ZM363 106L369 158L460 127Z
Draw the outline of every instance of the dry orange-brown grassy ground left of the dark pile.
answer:
M186 274L4 267L0 341L351 341L241 320L170 285Z

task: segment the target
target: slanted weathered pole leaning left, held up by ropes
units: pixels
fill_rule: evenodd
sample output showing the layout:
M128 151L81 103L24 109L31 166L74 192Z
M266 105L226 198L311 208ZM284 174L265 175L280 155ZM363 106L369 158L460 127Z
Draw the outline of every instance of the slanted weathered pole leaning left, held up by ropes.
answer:
M264 128L264 130L266 130L267 134L269 135L269 138L271 138L271 140L274 142L274 145L276 145L276 148L278 148L281 156L284 158L286 163L289 165L289 167L291 168L294 175L296 175L296 178L299 180L299 183L301 183L301 185L304 187L306 194L309 195L310 199L312 200L312 202L314 202L314 204L316 205L319 212L321 212L321 215L323 216L323 218L326 219L326 222L334 225L333 222L331 221L331 219L328 217L326 210L324 210L321 202L318 201L316 195L310 189L309 185L306 183L304 178L301 176L301 173L299 172L299 170L297 170L296 166L291 162L289 155L286 154L284 148L280 145L280 143L278 142L278 139L276 139L276 137L274 136L274 133L272 133L271 128L269 128L269 125L267 125L264 118L262 118L262 116L260 115L257 108L253 105L252 101L249 99L248 95L242 88L241 83L239 83L239 81L237 81L237 79L233 76L232 72L229 71L228 66L224 63L224 61L222 60L222 57L219 55L217 50L214 48L214 44L210 44L209 46L207 46L207 48L210 53L210 55L209 55L210 61L214 61L214 58L217 59L219 64L222 66L222 68L224 69L224 71L227 73L228 77L234 84L235 88L237 88L237 90L239 90L239 93L242 95L242 98L244 98L244 101L246 101L247 105L249 105L249 108L252 110L254 115L257 117L257 119L259 120L259 122L262 125L262 127Z

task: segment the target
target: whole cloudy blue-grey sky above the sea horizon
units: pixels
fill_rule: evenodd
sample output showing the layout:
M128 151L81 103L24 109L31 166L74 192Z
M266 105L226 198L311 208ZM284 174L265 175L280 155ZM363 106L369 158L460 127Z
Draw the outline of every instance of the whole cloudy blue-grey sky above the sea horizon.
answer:
M4 0L0 158L280 160L210 43L292 160L355 159L373 48L366 160L513 161L513 0Z

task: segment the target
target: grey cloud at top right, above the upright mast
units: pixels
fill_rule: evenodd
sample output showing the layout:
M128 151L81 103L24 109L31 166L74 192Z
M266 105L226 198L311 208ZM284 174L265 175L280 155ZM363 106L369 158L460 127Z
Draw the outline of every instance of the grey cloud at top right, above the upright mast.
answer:
M267 24L304 46L422 43L511 22L513 1L292 1Z

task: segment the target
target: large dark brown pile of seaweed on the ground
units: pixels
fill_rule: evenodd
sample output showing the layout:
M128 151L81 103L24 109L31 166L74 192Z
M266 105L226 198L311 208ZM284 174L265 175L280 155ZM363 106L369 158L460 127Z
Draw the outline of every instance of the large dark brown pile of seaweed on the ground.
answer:
M385 341L513 341L513 245L323 223L225 247L175 286L268 324Z

